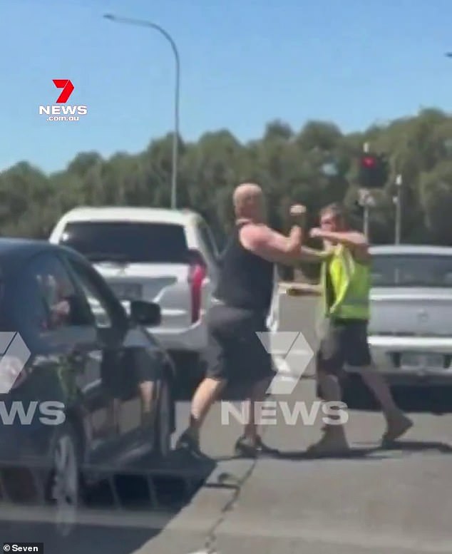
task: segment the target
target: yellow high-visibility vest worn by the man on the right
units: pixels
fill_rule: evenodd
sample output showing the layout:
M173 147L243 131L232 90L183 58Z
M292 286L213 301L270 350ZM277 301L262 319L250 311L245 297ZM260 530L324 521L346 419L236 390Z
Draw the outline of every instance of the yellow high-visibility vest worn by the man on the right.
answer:
M344 245L337 245L322 263L321 283L326 317L369 319L370 265L357 262ZM328 305L329 292L334 297L331 306Z

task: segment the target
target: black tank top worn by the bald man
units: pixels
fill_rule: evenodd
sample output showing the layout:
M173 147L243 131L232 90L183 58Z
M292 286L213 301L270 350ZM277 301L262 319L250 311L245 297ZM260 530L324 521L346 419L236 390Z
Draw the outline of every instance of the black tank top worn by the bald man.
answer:
M242 246L236 225L222 253L220 275L214 296L228 306L268 312L272 303L274 264Z

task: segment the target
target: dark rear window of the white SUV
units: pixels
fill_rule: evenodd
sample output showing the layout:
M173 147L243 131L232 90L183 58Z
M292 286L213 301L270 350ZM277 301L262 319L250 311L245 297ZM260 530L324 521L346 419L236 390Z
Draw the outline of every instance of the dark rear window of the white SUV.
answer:
M168 223L73 222L60 242L91 262L180 264L188 257L183 227Z

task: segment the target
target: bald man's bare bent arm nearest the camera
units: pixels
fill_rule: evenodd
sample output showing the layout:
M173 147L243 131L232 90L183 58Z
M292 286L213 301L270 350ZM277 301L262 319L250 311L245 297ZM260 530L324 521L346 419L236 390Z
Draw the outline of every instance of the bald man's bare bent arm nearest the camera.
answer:
M294 225L289 236L266 225L246 225L240 232L242 245L264 260L284 265L295 265L300 260L302 228Z

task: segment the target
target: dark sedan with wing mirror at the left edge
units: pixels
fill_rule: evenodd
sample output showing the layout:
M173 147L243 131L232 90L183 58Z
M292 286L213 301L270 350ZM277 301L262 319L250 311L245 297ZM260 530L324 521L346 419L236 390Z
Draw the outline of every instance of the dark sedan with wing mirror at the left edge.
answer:
M98 476L170 450L174 368L145 329L159 322L148 302L132 302L128 316L77 252L0 239L3 484L21 488L14 471L38 476L56 515L69 518L60 533Z

